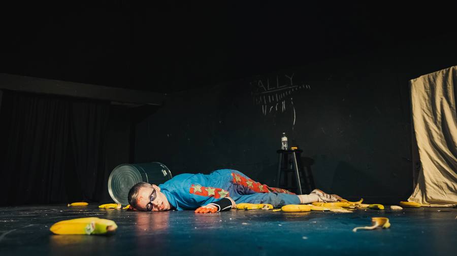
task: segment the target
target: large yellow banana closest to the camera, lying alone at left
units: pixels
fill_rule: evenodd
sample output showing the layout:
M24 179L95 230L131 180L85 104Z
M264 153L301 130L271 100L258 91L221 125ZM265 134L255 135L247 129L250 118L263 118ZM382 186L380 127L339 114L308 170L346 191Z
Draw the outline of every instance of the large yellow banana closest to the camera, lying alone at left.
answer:
M111 220L87 217L55 223L49 230L57 235L102 235L112 233L116 229L116 223Z

